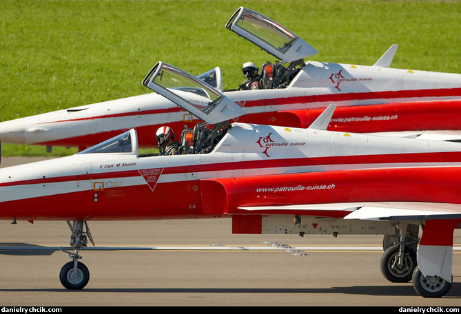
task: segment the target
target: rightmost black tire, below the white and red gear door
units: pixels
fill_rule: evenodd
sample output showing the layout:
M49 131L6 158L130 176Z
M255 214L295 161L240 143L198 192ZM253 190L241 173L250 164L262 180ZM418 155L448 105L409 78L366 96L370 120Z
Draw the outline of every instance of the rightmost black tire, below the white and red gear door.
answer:
M443 297L450 290L451 282L438 276L424 276L420 268L416 267L413 273L413 288L422 297Z

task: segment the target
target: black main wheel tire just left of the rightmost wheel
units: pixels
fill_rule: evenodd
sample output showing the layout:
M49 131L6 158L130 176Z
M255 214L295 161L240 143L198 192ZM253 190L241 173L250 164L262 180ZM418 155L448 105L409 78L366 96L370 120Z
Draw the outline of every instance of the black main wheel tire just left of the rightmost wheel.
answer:
M380 260L381 273L390 282L409 282L413 276L414 269L418 265L416 253L410 249L404 255L404 265L396 267L399 252L398 245L393 245L386 249Z

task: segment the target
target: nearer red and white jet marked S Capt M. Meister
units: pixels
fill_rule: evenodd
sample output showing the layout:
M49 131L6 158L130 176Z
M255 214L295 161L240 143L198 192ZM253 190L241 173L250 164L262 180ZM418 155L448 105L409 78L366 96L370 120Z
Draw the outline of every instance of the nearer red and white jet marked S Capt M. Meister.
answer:
M73 156L0 169L1 220L71 227L70 247L59 248L73 252L63 286L88 283L79 251L90 249L93 220L231 217L233 233L385 235L385 278L412 280L423 297L449 291L460 143L331 132L334 105L308 128L229 123L240 106L161 62L143 84L205 121L183 132L179 154L140 155L131 129Z

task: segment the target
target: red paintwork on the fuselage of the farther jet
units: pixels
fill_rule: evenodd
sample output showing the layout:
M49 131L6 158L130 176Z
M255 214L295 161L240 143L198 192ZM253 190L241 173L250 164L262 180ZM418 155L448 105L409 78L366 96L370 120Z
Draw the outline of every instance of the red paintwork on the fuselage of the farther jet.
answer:
M337 103L338 108L334 114L334 118L355 118L364 115L371 115L373 108L375 112L378 111L384 115L383 112L391 112L390 114L398 114L398 120L395 121L370 121L369 123L364 121L355 121L354 123L336 123L331 125L331 129L344 129L347 132L395 132L409 129L459 129L455 119L451 119L451 125L447 123L440 123L439 121L433 121L434 117L444 119L443 113L447 112L441 109L440 101L434 101L433 98L460 98L461 88L452 89L438 89L438 90L405 90L398 92L372 92L372 93L348 93L348 94L331 94L331 95L310 95L310 96L296 96L296 97L285 97L285 98L263 98L248 101L238 101L237 103L245 103L245 107L265 107L260 112L249 113L244 116L240 116L237 120L245 123L259 123L266 125L283 125L285 127L307 127L315 118L322 112L323 109L309 108L309 103L322 102L325 104ZM363 103L364 100L369 99L369 103ZM395 103L396 99L400 103ZM402 103L402 99L406 99L407 102ZM360 104L349 103L347 106L342 106L341 101L360 101ZM382 105L383 101L387 101L387 104ZM422 106L416 101L427 101L428 104L424 105L426 109L424 112L418 110L422 109ZM413 103L409 103L413 102ZM303 104L305 108L298 108L289 110L283 105ZM409 107L402 111L402 105ZM326 105L325 105L326 107ZM272 108L272 109L270 109ZM429 108L429 112L428 109ZM417 111L415 112L414 109ZM270 111L272 110L272 111ZM311 111L312 110L312 111ZM318 111L316 111L318 110ZM397 110L397 112L396 112ZM286 112L284 112L286 111ZM393 112L394 111L394 112ZM47 123L65 123L65 122L77 122L77 121L94 121L104 118L124 118L127 116L147 116L154 114L166 114L172 112L185 112L179 107L163 108L145 110L139 112L124 112L121 114L105 114L101 116L92 116L86 118L68 119L62 121L50 121ZM309 114L307 114L309 112ZM392 113L393 112L393 113ZM451 112L454 114L454 112ZM296 116L296 115L300 116ZM196 121L165 121L167 125L172 127L176 134L184 129L184 126L193 128ZM41 123L37 123L40 125ZM139 138L139 147L156 147L157 143L155 140L154 132L160 124L156 125L142 125L132 127L136 128ZM453 128L454 127L454 128ZM128 129L130 127L127 127ZM97 143L111 138L120 134L121 132L127 131L125 129L114 129L108 132L99 132L96 134L85 134L82 136L74 136L69 138L59 138L57 140L48 140L41 143L34 143L34 145L52 145L52 146L74 146L74 147L90 147Z

